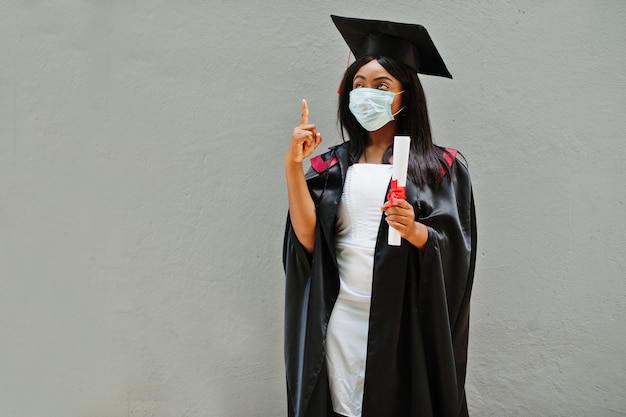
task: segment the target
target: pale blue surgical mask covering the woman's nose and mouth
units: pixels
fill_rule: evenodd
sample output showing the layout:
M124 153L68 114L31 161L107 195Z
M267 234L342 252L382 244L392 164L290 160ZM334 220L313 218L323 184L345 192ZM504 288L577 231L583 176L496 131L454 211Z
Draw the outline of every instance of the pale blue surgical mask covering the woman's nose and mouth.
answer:
M382 91L375 88L355 88L350 91L349 108L356 120L367 131L378 130L392 121L404 107L391 114L391 103L398 94L391 91Z

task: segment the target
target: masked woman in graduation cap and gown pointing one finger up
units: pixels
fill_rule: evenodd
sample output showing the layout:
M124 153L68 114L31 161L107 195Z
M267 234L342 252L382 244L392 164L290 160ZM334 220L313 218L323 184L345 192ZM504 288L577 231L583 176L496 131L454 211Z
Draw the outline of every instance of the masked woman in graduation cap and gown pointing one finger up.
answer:
M344 143L304 174L322 137L303 100L285 161L289 415L467 416L472 189L456 151L432 142L417 73L451 76L421 26L333 20L356 57L339 91ZM398 134L411 137L408 181L390 202Z

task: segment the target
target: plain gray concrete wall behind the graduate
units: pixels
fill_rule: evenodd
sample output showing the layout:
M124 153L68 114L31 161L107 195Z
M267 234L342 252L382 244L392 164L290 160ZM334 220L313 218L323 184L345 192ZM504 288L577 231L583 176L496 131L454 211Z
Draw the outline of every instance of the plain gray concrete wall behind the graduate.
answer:
M474 416L626 414L626 2L0 5L0 414L285 414L283 157L329 14L426 25L475 186Z

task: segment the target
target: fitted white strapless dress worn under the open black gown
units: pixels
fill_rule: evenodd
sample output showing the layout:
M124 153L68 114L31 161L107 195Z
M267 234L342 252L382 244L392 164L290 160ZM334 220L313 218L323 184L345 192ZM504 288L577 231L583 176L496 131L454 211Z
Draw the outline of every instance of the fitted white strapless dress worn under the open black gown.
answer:
M361 416L374 250L391 169L350 166L337 211L340 286L328 322L326 364L333 409L349 417Z

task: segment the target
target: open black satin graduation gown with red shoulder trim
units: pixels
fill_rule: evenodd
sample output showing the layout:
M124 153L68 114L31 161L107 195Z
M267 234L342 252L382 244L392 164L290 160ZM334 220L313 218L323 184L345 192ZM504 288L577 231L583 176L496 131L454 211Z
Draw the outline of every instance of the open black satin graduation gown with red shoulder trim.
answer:
M444 152L443 149L441 149ZM387 245L381 212L370 307L363 417L467 416L465 372L476 222L469 173L450 166L439 186L407 181L407 201L428 227L426 247ZM339 292L335 215L349 156L345 145L311 161L306 174L317 207L308 253L289 217L285 268L285 368L288 415L332 416L325 363L326 329Z

